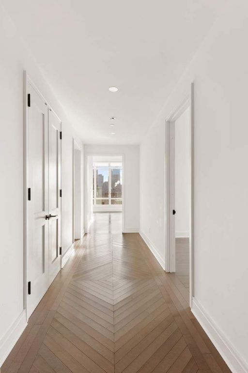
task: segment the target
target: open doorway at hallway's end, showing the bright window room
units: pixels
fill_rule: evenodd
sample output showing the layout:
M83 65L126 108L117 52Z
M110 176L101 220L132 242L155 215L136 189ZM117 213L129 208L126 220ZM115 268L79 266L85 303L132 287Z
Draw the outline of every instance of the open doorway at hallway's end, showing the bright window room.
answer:
M123 156L88 156L88 233L123 231Z

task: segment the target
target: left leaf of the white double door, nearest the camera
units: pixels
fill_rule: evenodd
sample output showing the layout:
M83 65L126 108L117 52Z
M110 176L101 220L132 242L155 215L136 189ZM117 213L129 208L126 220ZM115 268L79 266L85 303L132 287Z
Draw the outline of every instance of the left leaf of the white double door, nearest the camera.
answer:
M28 107L27 126L29 159L27 239L27 281L31 294L27 298L28 317L39 303L48 287L48 112L44 100L28 84L31 106Z

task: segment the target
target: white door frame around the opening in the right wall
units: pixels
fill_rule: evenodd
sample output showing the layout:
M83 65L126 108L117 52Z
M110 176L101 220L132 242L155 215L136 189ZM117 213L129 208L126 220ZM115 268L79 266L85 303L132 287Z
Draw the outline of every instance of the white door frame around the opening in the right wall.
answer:
M192 306L194 296L194 83L191 83L189 93L165 121L165 270L175 272L175 239L172 209L174 196L171 190L175 188L175 152L174 123L184 111L190 110L190 206L189 206L189 305Z

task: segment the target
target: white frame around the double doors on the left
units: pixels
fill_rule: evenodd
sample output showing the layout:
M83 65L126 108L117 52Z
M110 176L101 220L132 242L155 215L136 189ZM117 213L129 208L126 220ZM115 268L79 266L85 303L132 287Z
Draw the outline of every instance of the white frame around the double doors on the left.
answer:
M44 100L47 109L60 120L61 131L62 121L52 109L51 105L47 102L45 97L32 82L26 70L23 70L23 308L26 309L26 320L28 322L28 248L29 248L29 204L28 204L28 186L29 186L29 127L28 127L28 84L37 92L37 94ZM61 186L62 186L62 144L61 144ZM61 243L62 243L62 201L61 201ZM62 255L61 255L62 256Z

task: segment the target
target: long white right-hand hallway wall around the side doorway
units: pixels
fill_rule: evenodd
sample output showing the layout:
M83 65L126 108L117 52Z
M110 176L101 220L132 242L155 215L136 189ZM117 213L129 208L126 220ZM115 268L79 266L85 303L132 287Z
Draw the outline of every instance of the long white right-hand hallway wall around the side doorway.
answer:
M195 301L237 373L248 372L247 45L248 2L227 1L140 147L140 230L165 257L165 119L194 81Z

